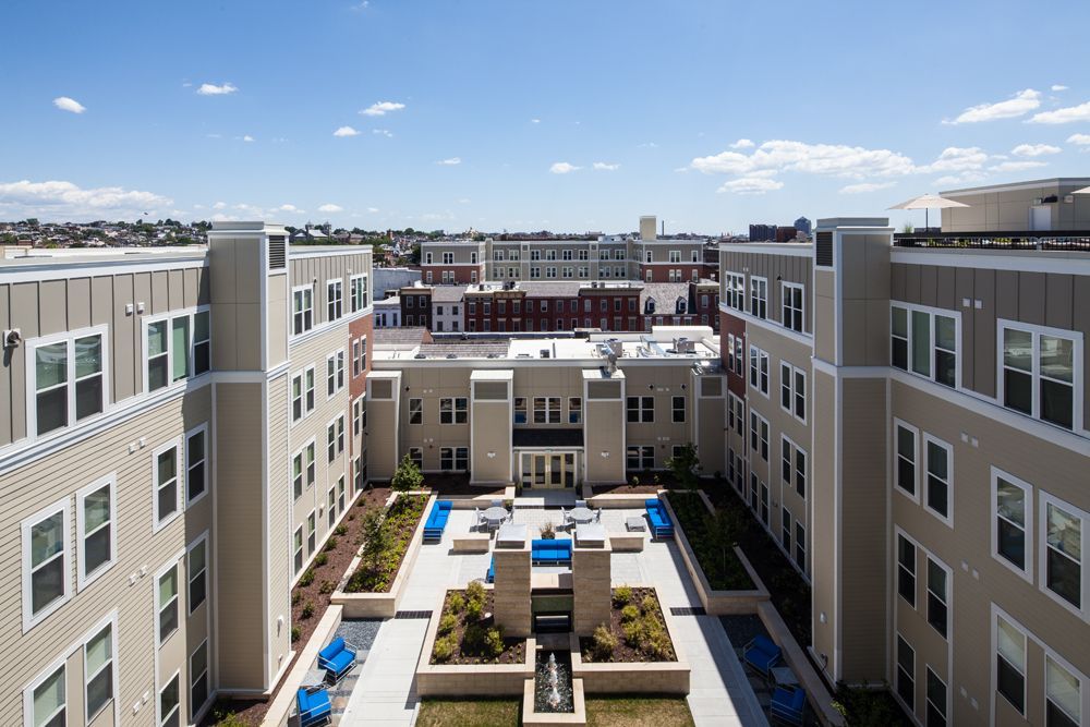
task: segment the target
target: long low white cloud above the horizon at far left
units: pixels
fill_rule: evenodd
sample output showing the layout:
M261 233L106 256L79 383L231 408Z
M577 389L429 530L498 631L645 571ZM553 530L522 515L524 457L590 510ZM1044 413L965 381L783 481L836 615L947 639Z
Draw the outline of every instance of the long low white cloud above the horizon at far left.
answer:
M35 216L55 219L97 216L107 210L118 216L140 217L173 206L172 199L153 192L120 186L85 190L72 182L56 180L32 182L24 179L0 183L0 199L5 205L38 213Z

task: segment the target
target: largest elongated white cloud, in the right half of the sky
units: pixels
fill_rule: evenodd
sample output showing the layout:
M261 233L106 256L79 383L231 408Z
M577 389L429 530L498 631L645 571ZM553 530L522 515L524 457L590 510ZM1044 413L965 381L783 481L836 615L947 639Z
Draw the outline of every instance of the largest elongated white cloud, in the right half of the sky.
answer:
M806 144L771 141L752 154L720 152L698 157L691 166L705 174L767 174L767 170L802 171L833 177L892 177L913 170L912 160L889 149L867 149L841 144Z

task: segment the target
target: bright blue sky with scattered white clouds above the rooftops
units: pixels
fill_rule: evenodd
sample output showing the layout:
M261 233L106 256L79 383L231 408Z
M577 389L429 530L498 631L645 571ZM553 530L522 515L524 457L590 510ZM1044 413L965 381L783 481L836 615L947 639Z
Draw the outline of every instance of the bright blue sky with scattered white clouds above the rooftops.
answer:
M8 0L0 27L3 220L717 233L1090 174L1086 2Z

